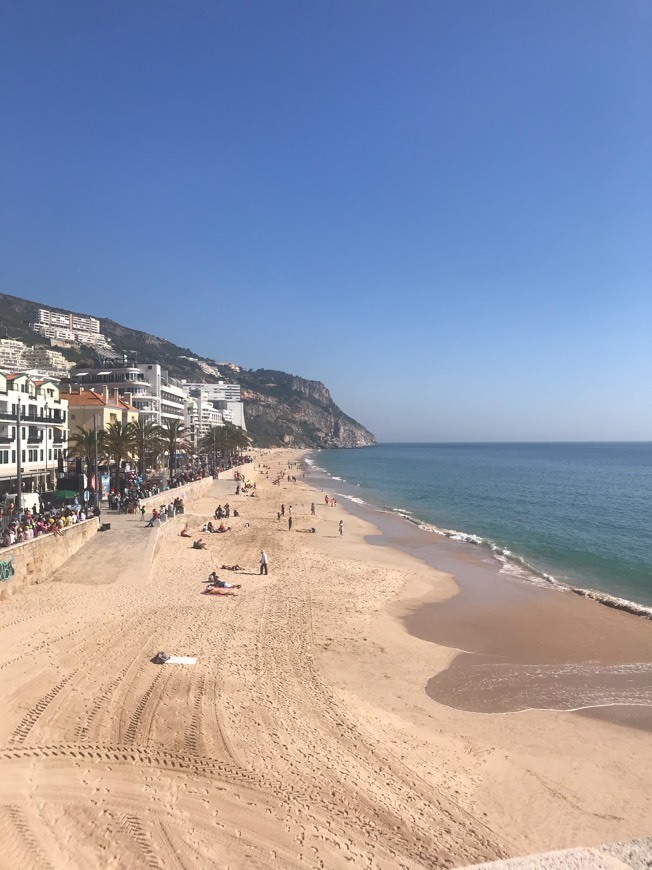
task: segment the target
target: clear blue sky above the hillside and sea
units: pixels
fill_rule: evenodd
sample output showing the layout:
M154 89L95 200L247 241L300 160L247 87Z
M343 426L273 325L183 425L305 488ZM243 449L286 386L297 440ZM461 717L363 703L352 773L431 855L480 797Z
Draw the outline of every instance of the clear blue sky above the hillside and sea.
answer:
M381 440L652 438L649 0L0 15L3 292Z

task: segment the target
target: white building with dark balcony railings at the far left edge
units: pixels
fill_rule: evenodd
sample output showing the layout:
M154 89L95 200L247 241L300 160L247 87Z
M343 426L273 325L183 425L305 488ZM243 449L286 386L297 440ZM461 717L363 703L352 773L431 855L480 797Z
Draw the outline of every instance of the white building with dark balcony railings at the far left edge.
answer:
M30 492L53 489L67 433L68 403L55 379L0 372L0 494L17 491L19 463L26 504Z

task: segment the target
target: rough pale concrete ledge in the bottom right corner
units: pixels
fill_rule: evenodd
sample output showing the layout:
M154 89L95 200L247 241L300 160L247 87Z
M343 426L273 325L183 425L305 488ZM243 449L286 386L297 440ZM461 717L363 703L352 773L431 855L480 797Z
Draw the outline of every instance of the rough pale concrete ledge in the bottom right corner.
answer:
M652 868L652 837L611 843L591 849L562 849L474 864L459 870L650 870Z

